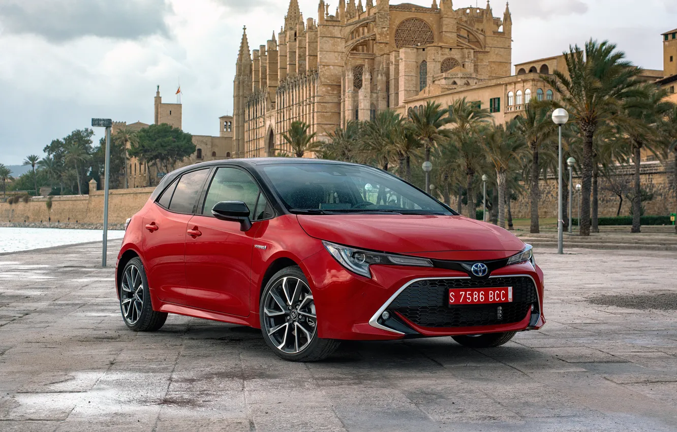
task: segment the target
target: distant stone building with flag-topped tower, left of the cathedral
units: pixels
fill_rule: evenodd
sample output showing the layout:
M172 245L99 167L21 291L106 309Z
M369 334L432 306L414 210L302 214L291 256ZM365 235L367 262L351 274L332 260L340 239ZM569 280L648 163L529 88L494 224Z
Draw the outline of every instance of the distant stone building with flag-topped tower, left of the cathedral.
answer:
M183 105L167 104L162 102L160 96L160 86L158 85L154 98L154 124L161 125L167 123L171 127L183 129L182 125ZM121 129L131 129L132 131L140 131L148 127L146 123L137 121L127 125L126 122L113 122L112 134L115 135ZM190 157L183 159L175 168L185 167L198 162L206 160L229 159L232 157L233 151L233 117L221 116L219 117L219 135L192 135L193 144L196 146L196 151ZM126 175L123 174L123 185L127 188L141 188L144 186L156 185L159 178L164 173L158 173L155 169L141 163L137 158L127 158Z

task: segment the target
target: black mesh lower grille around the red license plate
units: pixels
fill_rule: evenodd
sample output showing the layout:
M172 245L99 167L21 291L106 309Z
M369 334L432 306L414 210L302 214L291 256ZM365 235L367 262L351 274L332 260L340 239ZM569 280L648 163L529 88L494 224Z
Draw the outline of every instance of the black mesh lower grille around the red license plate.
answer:
M449 306L450 289L498 286L512 286L512 303ZM533 280L517 276L489 280L419 280L405 288L388 309L422 327L471 327L520 322L532 304L538 307Z

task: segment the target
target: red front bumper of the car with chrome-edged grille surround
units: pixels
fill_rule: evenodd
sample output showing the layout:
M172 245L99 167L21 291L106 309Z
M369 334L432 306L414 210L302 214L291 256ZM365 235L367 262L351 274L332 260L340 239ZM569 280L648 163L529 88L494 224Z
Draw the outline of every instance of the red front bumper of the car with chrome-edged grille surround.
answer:
M483 281L471 281L467 274L453 270L395 265L372 265L372 278L364 278L349 272L326 251L311 255L302 261L301 267L313 289L318 314L318 335L326 339L388 340L456 336L536 330L545 324L543 272L538 265L533 267L528 262L496 269L490 278ZM521 305L524 305L521 312L520 309L515 309L517 304L498 304L492 305L493 310L502 310L496 309L499 306L505 307L504 316L499 311L498 316L494 314L489 317L486 307L482 309L475 306L457 309L463 315L462 319L446 316L448 314L445 309L450 309L443 303L448 293L447 282L492 286L492 282L504 282L506 278L520 280L523 284L528 282L533 286L529 295L521 300ZM418 306L418 300L414 299L414 304L403 305L400 295L410 294L408 289L420 288L424 281L444 283L437 288L427 286L427 293L433 297L439 295L442 300L438 297L422 299L422 306L429 307L425 309L428 315L422 319L420 314L412 314L412 309L406 307ZM529 305L533 305L533 308ZM473 307L477 310L468 309ZM382 314L386 310L391 316L388 320L383 320ZM431 313L438 314L439 317L434 314L431 316ZM472 319L466 317L468 314ZM445 323L453 326L445 326Z

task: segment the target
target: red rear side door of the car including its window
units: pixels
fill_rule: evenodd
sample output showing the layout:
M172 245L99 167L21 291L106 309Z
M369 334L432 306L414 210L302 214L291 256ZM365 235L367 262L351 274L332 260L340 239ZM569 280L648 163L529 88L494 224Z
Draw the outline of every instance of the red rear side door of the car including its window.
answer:
M150 289L160 301L185 304L185 236L210 169L183 174L144 216L142 244Z

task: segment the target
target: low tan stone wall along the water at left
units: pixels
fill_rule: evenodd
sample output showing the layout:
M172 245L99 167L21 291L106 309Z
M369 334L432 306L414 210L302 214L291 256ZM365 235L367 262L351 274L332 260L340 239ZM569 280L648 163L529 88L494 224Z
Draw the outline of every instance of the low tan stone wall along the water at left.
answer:
M128 217L141 210L155 188L111 190L108 199L108 221L125 223ZM28 202L7 204L0 202L2 222L56 222L102 223L104 219L104 192L98 190L89 195L65 195L51 197L51 211L47 209L49 198L30 198Z

